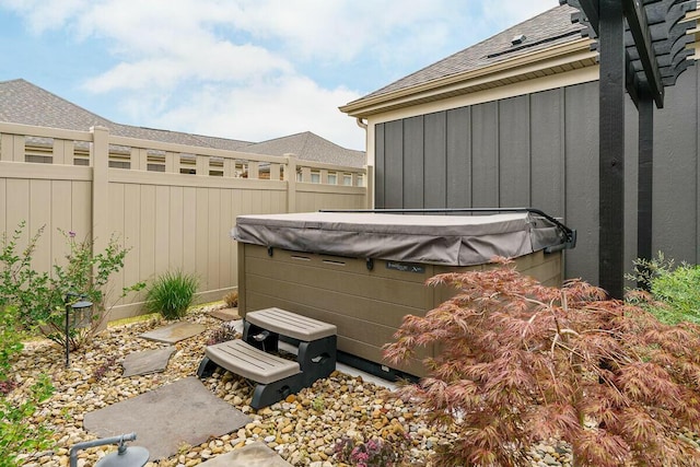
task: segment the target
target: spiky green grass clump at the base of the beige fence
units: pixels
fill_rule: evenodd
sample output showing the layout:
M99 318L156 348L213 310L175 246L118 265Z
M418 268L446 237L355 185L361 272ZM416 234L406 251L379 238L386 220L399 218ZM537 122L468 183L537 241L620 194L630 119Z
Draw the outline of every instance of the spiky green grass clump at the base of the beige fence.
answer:
M165 272L148 287L145 310L149 313L160 313L165 319L182 318L192 304L198 285L199 280L195 275Z

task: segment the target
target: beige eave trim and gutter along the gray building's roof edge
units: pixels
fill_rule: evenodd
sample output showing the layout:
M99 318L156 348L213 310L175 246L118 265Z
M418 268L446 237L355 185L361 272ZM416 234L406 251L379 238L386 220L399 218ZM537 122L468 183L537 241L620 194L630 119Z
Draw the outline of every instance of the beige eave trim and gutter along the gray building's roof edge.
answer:
M562 71L595 66L594 40L576 37L563 44L518 55L476 70L451 74L415 86L363 97L343 105L340 112L366 118L397 108L469 94L503 84L526 81Z

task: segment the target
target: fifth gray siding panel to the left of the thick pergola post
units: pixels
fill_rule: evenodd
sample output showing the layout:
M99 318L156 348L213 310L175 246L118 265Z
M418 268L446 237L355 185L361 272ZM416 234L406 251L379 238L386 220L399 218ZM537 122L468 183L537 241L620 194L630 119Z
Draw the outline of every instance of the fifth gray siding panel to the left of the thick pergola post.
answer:
M471 207L471 107L447 110L447 208Z

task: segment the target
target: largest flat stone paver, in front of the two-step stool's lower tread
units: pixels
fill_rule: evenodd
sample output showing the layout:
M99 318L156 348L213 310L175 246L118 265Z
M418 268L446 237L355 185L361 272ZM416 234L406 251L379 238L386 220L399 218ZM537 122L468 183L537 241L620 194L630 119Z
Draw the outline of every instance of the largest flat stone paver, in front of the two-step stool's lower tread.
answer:
M184 444L196 446L245 427L252 419L218 398L196 377L161 386L85 413L83 427L97 437L136 432L135 446L163 459ZM270 464L268 464L270 465Z

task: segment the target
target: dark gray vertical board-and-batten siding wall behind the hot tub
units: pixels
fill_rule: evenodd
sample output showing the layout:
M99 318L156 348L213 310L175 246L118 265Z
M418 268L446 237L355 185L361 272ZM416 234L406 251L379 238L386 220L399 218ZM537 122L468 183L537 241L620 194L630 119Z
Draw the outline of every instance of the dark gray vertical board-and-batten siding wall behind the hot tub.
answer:
M654 114L653 250L700 260L699 73ZM626 109L625 262L637 257L638 113ZM376 208L533 207L579 233L565 277L598 281L598 83L378 122Z

